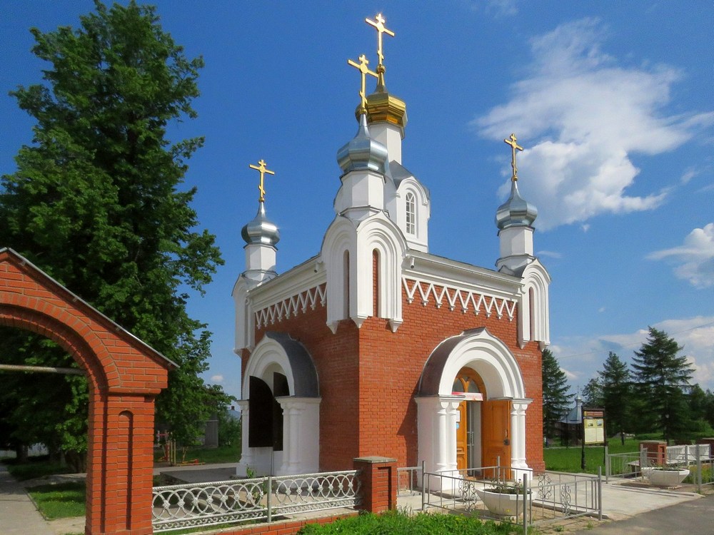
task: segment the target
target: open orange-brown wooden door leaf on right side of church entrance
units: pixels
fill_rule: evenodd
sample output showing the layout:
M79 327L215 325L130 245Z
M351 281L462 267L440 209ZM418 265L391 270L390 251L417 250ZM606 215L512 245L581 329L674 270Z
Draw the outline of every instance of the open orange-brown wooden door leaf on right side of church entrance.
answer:
M500 458L501 467L511 467L511 400L495 399L481 404L481 460L484 467L495 467ZM498 474L486 473L485 477ZM510 477L510 471L501 471L501 477Z

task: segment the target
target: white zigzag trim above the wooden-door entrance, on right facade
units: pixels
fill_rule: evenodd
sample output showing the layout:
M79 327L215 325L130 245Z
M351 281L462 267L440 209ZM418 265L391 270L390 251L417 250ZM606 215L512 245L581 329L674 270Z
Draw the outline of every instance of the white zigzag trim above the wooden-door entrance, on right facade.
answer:
M403 277L402 281L404 283L404 290L406 291L407 302L410 304L414 301L416 290L419 290L421 305L424 307L428 305L430 297L433 297L436 301L437 308L441 308L441 305L446 303L448 310L452 312L456 310L458 306L461 312L466 314L469 307L471 307L471 310L473 310L473 313L477 316L481 312L486 312L486 317L491 317L491 314L496 312L499 320L503 317L503 313L506 312L508 321L513 321L513 315L516 313L516 305L518 304L516 300L494 297L493 295L483 295L473 290L462 290L448 286L439 286L441 290L437 291L436 285L432 282L427 283L421 280L410 280L406 277ZM412 282L411 287L409 287L410 282Z

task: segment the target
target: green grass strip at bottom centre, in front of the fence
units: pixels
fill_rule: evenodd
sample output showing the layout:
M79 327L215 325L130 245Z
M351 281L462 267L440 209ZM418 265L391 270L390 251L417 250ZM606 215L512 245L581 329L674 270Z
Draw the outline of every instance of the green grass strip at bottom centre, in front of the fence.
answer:
M307 524L299 535L508 535L513 531L509 524L482 521L473 516L453 514L418 513L409 516L404 512L389 511L384 514L360 514L339 519L331 524Z

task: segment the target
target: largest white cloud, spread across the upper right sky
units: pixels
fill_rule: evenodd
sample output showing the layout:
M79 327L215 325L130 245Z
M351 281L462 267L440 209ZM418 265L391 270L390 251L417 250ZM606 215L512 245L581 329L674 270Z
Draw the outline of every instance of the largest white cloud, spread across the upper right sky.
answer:
M473 121L483 136L498 139L515 131L525 142L521 191L538 206L536 225L543 230L600 213L657 208L666 191L626 194L640 173L633 153L672 151L714 123L714 113L666 116L663 108L680 72L618 66L600 50L602 41L595 19L533 39L529 74L511 86L510 101Z

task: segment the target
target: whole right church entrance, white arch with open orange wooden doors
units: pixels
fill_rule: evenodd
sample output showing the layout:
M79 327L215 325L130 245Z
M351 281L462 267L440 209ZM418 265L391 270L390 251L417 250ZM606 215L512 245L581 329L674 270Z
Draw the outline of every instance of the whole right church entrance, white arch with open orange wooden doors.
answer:
M448 338L419 384L419 458L430 472L526 464L525 387L516 358L486 329Z

